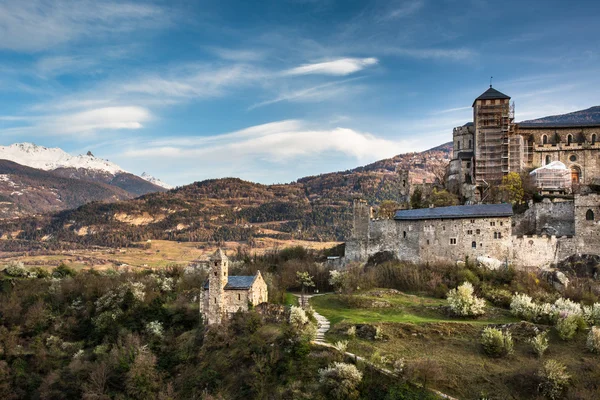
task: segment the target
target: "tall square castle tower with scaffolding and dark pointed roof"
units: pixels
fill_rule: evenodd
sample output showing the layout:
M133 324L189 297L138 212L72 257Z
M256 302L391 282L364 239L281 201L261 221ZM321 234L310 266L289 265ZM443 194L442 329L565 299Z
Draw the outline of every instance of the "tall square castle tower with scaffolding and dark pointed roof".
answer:
M509 172L510 96L490 88L473 102L475 184L489 187Z

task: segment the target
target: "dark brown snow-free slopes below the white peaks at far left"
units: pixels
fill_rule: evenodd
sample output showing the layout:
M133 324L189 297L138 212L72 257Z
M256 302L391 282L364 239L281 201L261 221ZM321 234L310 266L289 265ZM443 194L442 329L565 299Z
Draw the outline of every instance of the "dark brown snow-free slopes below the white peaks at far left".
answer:
M114 202L131 197L115 186L65 178L0 160L0 218L55 212L90 201Z

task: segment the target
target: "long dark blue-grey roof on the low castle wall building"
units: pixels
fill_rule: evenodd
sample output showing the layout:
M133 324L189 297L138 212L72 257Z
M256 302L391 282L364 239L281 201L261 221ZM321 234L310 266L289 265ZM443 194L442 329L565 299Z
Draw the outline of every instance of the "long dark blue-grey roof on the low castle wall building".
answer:
M450 206L436 208L418 208L415 210L399 210L394 215L395 220L419 219L456 219L456 218L487 218L511 217L510 204L476 204L471 206Z

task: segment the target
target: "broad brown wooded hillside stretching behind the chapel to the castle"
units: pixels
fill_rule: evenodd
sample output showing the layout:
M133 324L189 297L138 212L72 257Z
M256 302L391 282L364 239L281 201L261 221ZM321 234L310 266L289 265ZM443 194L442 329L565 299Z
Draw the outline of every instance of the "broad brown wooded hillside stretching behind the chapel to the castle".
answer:
M236 178L207 180L166 193L0 225L4 237L127 246L148 239L252 241L257 237L344 240L351 228L351 203L398 200L396 168L411 180L433 181L450 158L451 145L408 153L353 170L322 174L283 185Z

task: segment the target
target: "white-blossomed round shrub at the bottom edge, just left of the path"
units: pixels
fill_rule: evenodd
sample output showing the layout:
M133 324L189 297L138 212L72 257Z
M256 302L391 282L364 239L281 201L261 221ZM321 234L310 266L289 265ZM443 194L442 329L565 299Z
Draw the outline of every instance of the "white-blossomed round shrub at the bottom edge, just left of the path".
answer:
M331 399L357 399L362 373L353 364L334 362L319 370L321 389Z

